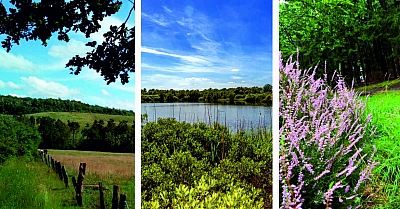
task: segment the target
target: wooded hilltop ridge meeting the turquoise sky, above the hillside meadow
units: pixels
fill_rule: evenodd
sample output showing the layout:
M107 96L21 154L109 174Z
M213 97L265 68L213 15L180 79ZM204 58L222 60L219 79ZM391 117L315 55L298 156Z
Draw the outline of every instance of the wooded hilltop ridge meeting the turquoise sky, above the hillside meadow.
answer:
M81 112L100 113L108 115L134 116L132 110L120 110L115 108L89 105L80 101L62 99L36 99L19 98L0 95L0 113L6 115L25 115L40 112Z

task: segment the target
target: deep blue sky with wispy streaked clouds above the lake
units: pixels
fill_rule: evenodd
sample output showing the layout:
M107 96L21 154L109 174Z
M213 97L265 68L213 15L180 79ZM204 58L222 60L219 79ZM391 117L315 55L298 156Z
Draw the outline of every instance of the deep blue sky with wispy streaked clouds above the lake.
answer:
M142 1L142 88L272 83L272 0Z

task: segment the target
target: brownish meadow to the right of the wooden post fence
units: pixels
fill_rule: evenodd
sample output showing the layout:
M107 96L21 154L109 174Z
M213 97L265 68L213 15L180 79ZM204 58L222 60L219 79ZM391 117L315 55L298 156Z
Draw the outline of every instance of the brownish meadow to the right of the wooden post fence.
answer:
M112 199L113 185L119 185L121 194L127 194L129 206L134 205L134 154L76 150L48 150L48 154L66 166L69 178L78 176L79 163L85 162L84 184L98 184L101 181L105 187L110 189L104 191L104 198L108 203ZM98 191L85 190L85 192L84 195L88 196L88 202L98 202Z

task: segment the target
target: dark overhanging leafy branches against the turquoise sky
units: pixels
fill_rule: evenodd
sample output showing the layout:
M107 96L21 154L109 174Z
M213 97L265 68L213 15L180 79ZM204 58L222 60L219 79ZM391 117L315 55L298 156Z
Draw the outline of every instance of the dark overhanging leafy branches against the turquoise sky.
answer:
M129 82L128 73L135 72L135 27L128 28L126 23L135 8L133 0L128 17L120 26L111 26L103 36L105 41L97 45L96 41L88 42L86 46L93 47L85 57L76 55L66 64L71 74L78 75L82 68L100 72L107 84L115 82L119 77L121 83ZM66 2L31 0L11 0L14 8L8 12L0 1L0 35L6 35L2 47L9 52L13 44L19 45L20 40L47 41L58 33L58 40L68 42L68 34L81 32L90 37L101 28L100 21L104 17L117 13L122 5L114 0L76 0ZM75 68L75 69L74 69Z

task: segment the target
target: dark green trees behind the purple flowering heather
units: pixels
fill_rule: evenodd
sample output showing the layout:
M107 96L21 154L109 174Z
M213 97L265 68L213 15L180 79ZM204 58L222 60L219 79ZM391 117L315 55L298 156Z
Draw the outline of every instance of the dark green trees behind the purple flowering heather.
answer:
M319 64L317 76L335 70L348 84L399 77L400 1L286 0L279 8L279 47L284 61L299 50L302 69ZM296 58L296 57L294 57Z

